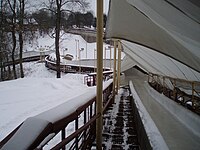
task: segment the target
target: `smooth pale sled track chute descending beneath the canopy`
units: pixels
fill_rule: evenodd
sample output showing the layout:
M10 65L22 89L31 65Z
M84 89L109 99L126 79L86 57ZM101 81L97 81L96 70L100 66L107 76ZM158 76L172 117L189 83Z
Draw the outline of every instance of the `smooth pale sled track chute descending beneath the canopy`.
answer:
M132 69L127 72L126 80L132 80L143 105L150 114L170 150L197 150L200 138L186 128L175 116L158 103L145 87L147 77Z

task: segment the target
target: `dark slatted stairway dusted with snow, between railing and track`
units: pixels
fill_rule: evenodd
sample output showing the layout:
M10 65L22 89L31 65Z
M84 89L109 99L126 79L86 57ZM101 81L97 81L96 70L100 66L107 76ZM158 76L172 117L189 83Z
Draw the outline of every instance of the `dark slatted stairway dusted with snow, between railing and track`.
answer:
M140 150L134 126L129 87L123 87L103 117L103 149Z

